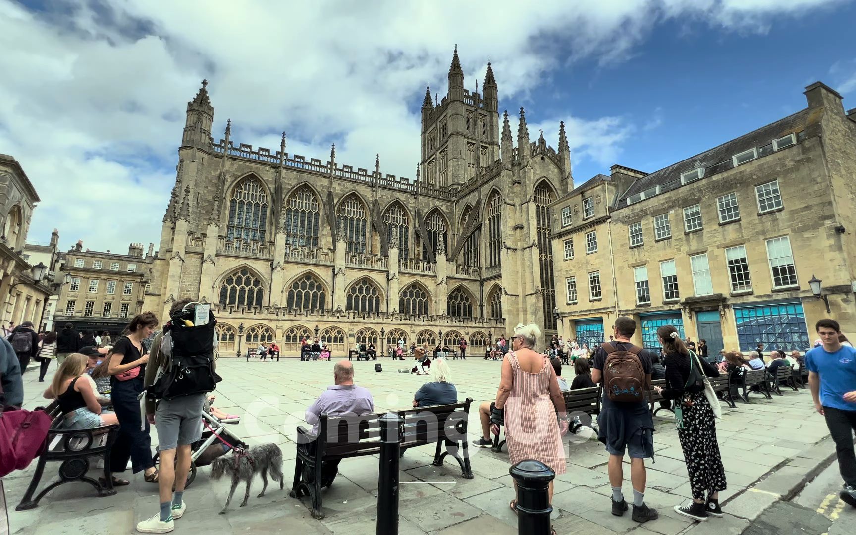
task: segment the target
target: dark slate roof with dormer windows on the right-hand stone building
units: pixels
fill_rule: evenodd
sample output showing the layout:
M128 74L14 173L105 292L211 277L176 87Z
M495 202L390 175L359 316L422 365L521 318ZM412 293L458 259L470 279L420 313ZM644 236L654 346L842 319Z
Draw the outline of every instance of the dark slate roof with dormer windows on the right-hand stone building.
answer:
M678 187L681 187L681 174L693 169L704 168L704 178L706 180L711 175L722 173L722 171L732 169L734 163L731 157L740 152L747 151L752 147L758 147L758 158L773 152L772 140L779 139L788 134L800 133L805 130L806 120L808 118L808 109L800 110L794 115L787 116L779 121L768 124L767 126L758 128L749 134L745 134L734 140L727 141L720 146L716 146L709 151L696 154L691 158L687 158L678 163L673 163L669 167L660 169L645 175L642 178L633 181L633 185L626 192L621 193L621 199L618 202L617 208L627 206L627 197L635 195L651 189L652 187L660 186L660 193L668 192ZM797 142L803 140L803 137L797 136ZM687 184L690 186L690 184Z

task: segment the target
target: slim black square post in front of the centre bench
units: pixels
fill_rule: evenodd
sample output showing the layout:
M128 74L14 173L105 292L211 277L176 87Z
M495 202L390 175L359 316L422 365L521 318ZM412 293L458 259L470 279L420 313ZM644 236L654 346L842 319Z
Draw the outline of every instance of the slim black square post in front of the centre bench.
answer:
M380 422L380 468L377 474L377 535L398 535L398 431L401 416L386 413Z

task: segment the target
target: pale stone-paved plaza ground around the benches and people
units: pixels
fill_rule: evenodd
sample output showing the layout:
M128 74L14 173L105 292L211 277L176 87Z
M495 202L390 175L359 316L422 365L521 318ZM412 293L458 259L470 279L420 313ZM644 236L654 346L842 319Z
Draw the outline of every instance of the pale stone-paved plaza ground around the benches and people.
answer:
M372 391L378 411L410 407L413 393L428 377L397 372L410 362L389 359L380 362L381 373L374 372L374 362L354 362L355 383ZM496 395L500 363L467 359L453 360L450 365L459 399L471 397L474 401L470 411L472 440L480 432L478 403L492 400ZM229 482L211 481L208 468L200 468L185 496L187 513L175 522L176 533L375 532L377 457L342 461L332 488L324 490L324 520L312 519L308 498L299 502L288 497L294 474L294 427L302 422L304 410L318 393L333 382L332 368L331 362L296 359L219 361L217 371L224 380L217 390L216 406L228 413L243 414L241 424L235 425L233 431L247 443L272 442L282 447L286 487L285 490L269 487L265 497L257 498L261 481L256 479L246 508L237 507L241 498L238 495L242 487L239 487L233 509L229 514L219 515L217 512L228 496ZM45 384L36 383L36 374L27 372L25 407L43 402L40 396ZM722 519L711 518L693 526L672 509L691 495L675 425L667 413L668 417L657 418L657 455L653 464L648 463L645 495L645 501L659 509L660 519L639 526L630 520L629 514L624 517L609 514L607 455L596 440L585 439L591 435L586 430L581 433L585 437L574 436L574 443L569 445L568 473L556 480L553 505L557 531L586 535L630 530L663 535L742 532L765 508L793 497L834 453L823 419L813 413L808 390L797 393L782 389L782 392L782 397L774 395L772 400L752 395L750 405L738 402L737 409L723 405L725 415L717 425L717 433L728 478L728 490L722 493L721 500L728 514ZM156 434L152 430L152 446L155 443ZM449 462L447 458L444 467L431 466L433 450L431 446L410 449L401 459L401 535L517 532L516 518L508 509L513 497L508 455L471 448L475 477L461 479L454 460ZM34 465L3 479L13 533L131 533L136 522L157 511L157 485L147 484L141 474L136 474L130 478L132 484L120 487L116 496L98 498L86 484L67 484L45 496L39 508L15 512ZM55 477L56 465L46 467L45 478ZM834 474L830 478L835 479ZM629 481L624 492L626 495L631 492ZM829 510L833 509L834 506ZM856 519L856 514L847 509L840 514L841 519L833 525L839 529L842 523ZM829 533L833 533L831 528Z

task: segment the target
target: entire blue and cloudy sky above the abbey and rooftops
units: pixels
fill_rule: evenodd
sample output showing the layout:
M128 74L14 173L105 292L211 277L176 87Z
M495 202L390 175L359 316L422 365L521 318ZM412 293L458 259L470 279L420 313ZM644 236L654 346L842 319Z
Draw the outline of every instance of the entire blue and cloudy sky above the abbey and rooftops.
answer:
M425 83L458 45L473 88L532 140L568 124L578 184L654 171L805 107L823 80L856 106L851 0L475 3L0 0L0 152L39 191L31 241L154 241L187 100L207 78L215 139L413 177ZM513 127L515 131L516 128ZM128 210L133 206L133 210Z

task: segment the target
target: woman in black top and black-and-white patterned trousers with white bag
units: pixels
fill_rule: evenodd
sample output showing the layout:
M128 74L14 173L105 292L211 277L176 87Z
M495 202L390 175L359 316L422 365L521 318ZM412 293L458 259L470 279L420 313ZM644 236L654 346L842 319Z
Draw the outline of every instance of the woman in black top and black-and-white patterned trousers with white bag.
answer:
M663 398L675 400L678 438L693 491L693 501L675 505L675 512L693 520L722 516L719 492L726 489L725 468L716 442L714 407L704 392L704 376L719 377L719 370L691 352L675 327L663 325L657 336L666 353L666 388L654 389ZM713 399L718 403L715 395Z

